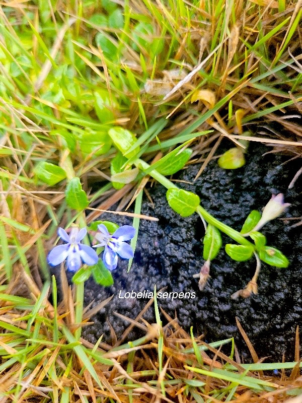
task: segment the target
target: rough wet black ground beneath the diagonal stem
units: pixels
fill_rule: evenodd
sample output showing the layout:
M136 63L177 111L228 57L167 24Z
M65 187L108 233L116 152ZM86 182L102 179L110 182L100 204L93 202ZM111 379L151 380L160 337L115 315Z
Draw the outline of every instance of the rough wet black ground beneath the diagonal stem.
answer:
M119 259L113 271L114 286L103 288L96 285L92 278L85 285L85 303L98 304L114 295L111 302L92 320L94 324L84 328L85 339L95 343L102 334L103 340L110 342L110 324L117 338L129 325L117 317L118 312L135 319L149 301L137 298L119 298L126 292L152 292L157 290L178 293L195 293L195 298L159 299L159 305L172 317L178 317L185 330L193 326L194 334L204 334L210 343L234 337L240 354L246 361L250 353L236 326L236 317L248 334L259 357L281 361L294 359L294 338L296 326L302 316L302 240L301 227L291 228L299 220L284 218L301 217L300 192L302 177L292 189L288 185L300 168L300 160L288 161L290 157L272 154L270 147L251 144L247 163L237 170L223 170L212 160L202 175L193 180L200 164L188 166L175 178L190 182L179 186L200 196L201 205L214 217L240 231L251 210L261 211L272 193L284 193L291 206L282 216L263 227L267 244L280 249L290 261L288 268L276 268L262 264L258 280L258 295L247 299L232 300L231 295L244 288L252 278L256 262L232 260L221 248L212 261L211 278L203 291L198 288L199 273L204 263L202 241L204 228L197 214L182 218L176 214L166 200L166 189L154 184L149 193L154 208L144 196L141 213L154 216L158 222L141 220L138 241L132 267L127 273L128 261ZM131 224L124 216L103 214L101 219L112 220L120 225ZM232 243L223 236L223 245ZM191 294L192 296L192 294ZM149 323L155 322L154 307L143 315ZM163 317L164 319L164 317ZM110 324L109 324L110 323ZM142 330L133 330L127 340L141 337Z

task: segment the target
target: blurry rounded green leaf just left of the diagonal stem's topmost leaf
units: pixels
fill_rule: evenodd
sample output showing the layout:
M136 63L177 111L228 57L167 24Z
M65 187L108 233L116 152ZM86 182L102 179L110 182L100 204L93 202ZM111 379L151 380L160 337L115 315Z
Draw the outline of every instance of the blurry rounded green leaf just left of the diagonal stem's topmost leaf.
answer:
M89 130L79 136L79 144L84 154L102 155L106 154L112 145L108 134L104 131Z

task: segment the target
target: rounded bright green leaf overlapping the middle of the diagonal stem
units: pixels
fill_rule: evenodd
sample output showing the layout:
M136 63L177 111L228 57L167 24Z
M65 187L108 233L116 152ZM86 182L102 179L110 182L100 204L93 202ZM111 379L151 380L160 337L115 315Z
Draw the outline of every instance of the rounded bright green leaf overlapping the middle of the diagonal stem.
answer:
M197 194L183 189L170 188L166 196L169 206L182 217L191 216L200 202Z

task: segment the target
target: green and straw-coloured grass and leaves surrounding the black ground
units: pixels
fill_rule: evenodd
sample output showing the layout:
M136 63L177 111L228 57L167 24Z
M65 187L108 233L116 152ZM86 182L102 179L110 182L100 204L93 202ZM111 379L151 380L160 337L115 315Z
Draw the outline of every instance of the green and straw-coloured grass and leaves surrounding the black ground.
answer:
M202 175L225 137L234 143L228 168L244 163L248 141L299 157L301 6L2 3L1 401L278 402L301 394L298 332L296 363L254 366L241 364L234 346L227 357L224 342L207 346L171 319L162 328L158 311L142 340L90 346L79 330L95 313L79 304L84 288L72 295L63 281L57 306L46 261L58 225L91 224L116 203L130 215L121 213L130 202L136 229L154 219L140 214L153 180L146 164L165 177L203 162ZM265 135L249 131L255 121ZM77 191L65 197L70 183ZM263 373L273 369L280 374Z

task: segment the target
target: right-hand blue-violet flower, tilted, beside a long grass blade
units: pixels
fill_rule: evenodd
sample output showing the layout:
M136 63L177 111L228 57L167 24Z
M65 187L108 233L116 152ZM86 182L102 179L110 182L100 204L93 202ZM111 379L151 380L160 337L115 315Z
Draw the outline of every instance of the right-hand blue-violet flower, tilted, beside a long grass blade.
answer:
M131 225L123 225L112 235L109 234L104 224L99 224L100 232L96 234L96 239L100 242L94 245L94 248L105 246L103 253L103 262L108 270L114 270L117 266L117 255L124 259L133 257L131 246L124 242L129 241L135 235L135 228Z

